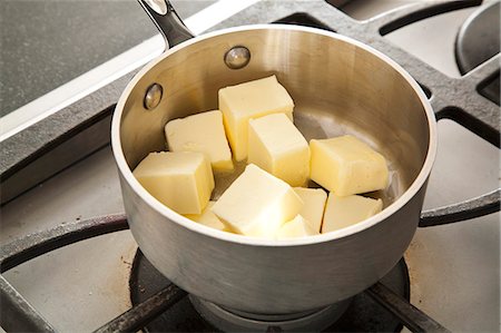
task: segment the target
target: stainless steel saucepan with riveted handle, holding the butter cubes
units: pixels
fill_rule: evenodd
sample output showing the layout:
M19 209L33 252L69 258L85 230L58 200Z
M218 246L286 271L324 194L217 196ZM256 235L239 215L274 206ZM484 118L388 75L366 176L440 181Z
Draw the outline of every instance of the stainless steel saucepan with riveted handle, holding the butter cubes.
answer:
M259 314L320 308L384 276L416 231L436 151L436 120L416 81L385 55L334 32L262 25L190 38L168 1L143 6L170 49L121 95L111 144L130 231L151 264L203 300ZM217 109L218 89L271 75L291 94L306 139L354 134L386 157L390 188L373 194L385 202L381 213L337 232L261 239L194 223L135 179L148 153L165 150L167 121Z

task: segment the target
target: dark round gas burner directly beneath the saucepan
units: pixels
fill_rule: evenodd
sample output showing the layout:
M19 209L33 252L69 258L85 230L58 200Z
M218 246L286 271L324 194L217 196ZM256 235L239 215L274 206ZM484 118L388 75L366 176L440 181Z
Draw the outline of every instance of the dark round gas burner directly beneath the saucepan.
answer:
M410 301L409 272L403 258L381 283ZM171 282L138 249L129 280L132 305L141 304L169 285ZM157 316L145 329L148 332L400 332L402 324L366 293L324 308L287 315L244 313L189 295Z

